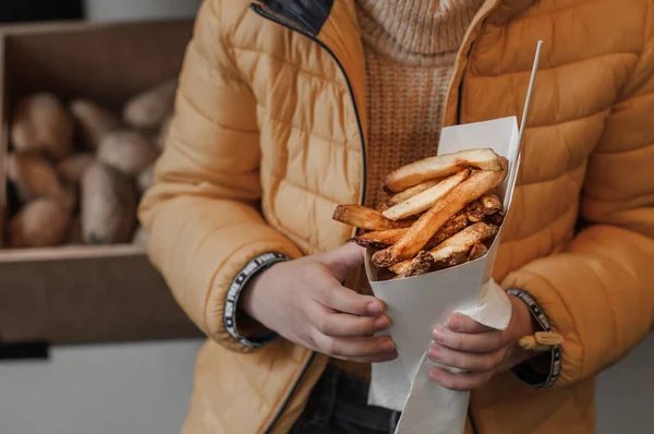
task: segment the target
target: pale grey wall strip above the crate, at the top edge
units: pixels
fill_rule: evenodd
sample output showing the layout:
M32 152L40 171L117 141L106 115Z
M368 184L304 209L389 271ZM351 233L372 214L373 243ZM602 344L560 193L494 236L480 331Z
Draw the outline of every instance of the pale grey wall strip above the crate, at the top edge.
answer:
M202 0L85 0L92 21L134 21L193 17Z

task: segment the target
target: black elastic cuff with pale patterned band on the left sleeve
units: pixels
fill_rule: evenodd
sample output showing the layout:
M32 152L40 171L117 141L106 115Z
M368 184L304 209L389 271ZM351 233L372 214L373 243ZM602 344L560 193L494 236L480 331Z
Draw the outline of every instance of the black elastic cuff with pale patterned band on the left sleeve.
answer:
M247 348L262 348L277 339L277 334L268 329L263 330L253 336L245 337L241 335L237 326L237 308L239 304L239 297L241 296L241 291L243 290L243 288L245 288L250 279L252 279L257 274L264 272L265 269L271 267L272 265L288 260L289 257L287 255L279 252L263 253L250 260L229 286L227 297L225 299L225 328L227 329L227 333L229 333L232 338L241 342L241 345Z

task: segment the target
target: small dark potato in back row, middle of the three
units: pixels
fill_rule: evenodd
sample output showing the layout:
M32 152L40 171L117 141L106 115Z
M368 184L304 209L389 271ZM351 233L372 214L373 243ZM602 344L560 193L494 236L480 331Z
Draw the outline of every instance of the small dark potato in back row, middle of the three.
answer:
M71 104L71 112L89 149L97 149L107 134L122 128L122 121L116 114L88 99L75 99Z

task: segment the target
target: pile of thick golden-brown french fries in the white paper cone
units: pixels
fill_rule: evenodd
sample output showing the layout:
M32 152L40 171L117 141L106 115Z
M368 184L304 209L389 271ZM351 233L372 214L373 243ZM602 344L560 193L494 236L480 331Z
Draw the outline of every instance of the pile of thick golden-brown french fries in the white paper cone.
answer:
M385 178L389 198L377 209L339 205L334 219L359 228L352 241L376 250L380 279L460 265L485 255L499 230L504 212L493 192L508 166L488 148L425 158Z

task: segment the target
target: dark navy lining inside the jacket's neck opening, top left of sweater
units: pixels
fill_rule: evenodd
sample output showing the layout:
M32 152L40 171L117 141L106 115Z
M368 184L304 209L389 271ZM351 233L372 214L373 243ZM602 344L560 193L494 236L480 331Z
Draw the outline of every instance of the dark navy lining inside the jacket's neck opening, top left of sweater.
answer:
M302 25L316 36L327 22L334 0L263 0L271 12Z

